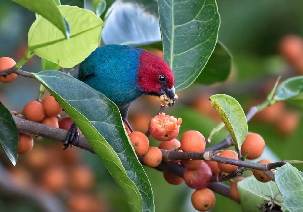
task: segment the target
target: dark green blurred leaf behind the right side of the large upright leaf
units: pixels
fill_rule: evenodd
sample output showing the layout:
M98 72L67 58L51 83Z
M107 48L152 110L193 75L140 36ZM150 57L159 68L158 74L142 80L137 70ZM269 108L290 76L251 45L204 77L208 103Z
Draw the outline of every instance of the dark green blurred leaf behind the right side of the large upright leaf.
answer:
M209 85L225 81L231 72L231 60L231 53L217 41L213 53L195 83Z

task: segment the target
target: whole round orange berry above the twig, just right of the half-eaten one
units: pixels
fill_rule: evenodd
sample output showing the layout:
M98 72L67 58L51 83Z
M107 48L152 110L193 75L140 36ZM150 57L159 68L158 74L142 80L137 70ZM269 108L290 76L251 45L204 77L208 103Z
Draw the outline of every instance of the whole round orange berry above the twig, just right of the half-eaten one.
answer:
M203 152L205 149L204 136L195 130L185 132L180 140L184 152Z

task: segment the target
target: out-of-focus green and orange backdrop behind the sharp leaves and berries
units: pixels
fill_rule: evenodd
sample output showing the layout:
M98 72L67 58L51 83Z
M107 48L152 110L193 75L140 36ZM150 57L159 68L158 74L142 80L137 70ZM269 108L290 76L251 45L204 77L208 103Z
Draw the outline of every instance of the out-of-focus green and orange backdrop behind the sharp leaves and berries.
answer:
M61 2L64 4L65 1ZM219 40L233 55L232 72L225 83L212 86L193 84L178 94L180 98L175 106L166 110L167 114L183 119L178 138L187 130L198 130L208 137L220 121L208 102L210 95L231 95L247 112L251 106L265 99L279 75L282 78L303 75L303 68L281 53L281 41L285 36L303 35L303 2L217 2L221 15ZM108 6L111 3L112 0L107 1ZM90 1L86 4L91 8ZM0 57L8 56L18 61L24 56L28 30L34 21L34 13L12 1L0 0ZM300 48L300 42L298 46ZM303 51L303 45L301 47ZM40 58L35 56L23 69L40 71ZM38 92L37 81L17 77L12 83L0 84L0 101L9 110L21 111L27 102L37 99ZM158 109L157 98L136 100L130 111L133 128L145 132L148 121ZM282 102L265 109L248 124L249 131L261 134L265 139L267 148L262 157L274 161L303 160L302 128L301 110ZM227 131L222 131L212 143L221 141L226 134ZM151 139L151 144L158 146L159 142ZM53 201L50 202L53 207L67 211L129 211L119 188L94 154L77 148L62 151L59 142L35 137L33 150L19 156L16 167L10 164L3 152L0 155L0 178L7 180L0 180L0 184L8 185L0 185L1 211L42 211L38 200L11 194L12 188L24 188L29 193L47 197L48 201ZM303 170L303 166L296 167ZM192 189L184 183L179 186L168 184L163 174L154 169L145 167L145 171L151 181L157 212L195 211L190 201ZM212 211L241 211L238 204L220 195L216 195L216 202Z

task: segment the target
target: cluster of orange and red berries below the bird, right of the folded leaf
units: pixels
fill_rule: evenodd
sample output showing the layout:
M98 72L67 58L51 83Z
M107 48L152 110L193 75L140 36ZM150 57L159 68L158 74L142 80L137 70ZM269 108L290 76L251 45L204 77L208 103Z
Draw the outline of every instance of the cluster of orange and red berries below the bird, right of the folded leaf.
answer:
M165 160L165 158L162 158L160 149L183 152L203 152L205 150L205 138L198 131L185 132L180 141L175 138L179 134L181 122L181 118L177 119L164 113L151 119L149 130L153 138L161 141L158 147L150 147L148 137L145 134L137 131L131 133L126 125L125 129L136 154L142 156L143 163L149 167L156 167L162 160ZM241 154L246 154L247 159L256 159L262 155L264 147L263 138L259 134L249 132L241 146ZM238 154L233 150L224 150L217 153L217 155L238 160ZM185 182L188 187L196 189L191 200L198 211L210 210L215 205L213 192L206 188L212 177L218 174L229 174L237 170L235 165L215 161L171 160L166 162L179 163L185 167L183 178L166 171L163 172L163 176L170 184L178 185ZM271 163L271 161L261 160L259 163ZM253 174L261 182L270 181L263 171L253 170ZM230 193L237 201L240 199L237 183L242 179L244 178L239 177L231 182Z

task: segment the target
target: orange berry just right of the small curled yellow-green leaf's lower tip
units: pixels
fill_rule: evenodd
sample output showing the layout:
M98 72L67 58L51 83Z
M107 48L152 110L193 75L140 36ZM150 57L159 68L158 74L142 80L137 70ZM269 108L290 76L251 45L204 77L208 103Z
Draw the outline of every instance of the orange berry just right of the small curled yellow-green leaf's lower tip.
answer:
M249 160L260 157L265 147L264 139L257 133L248 132L241 146L241 154L248 152L246 158Z

